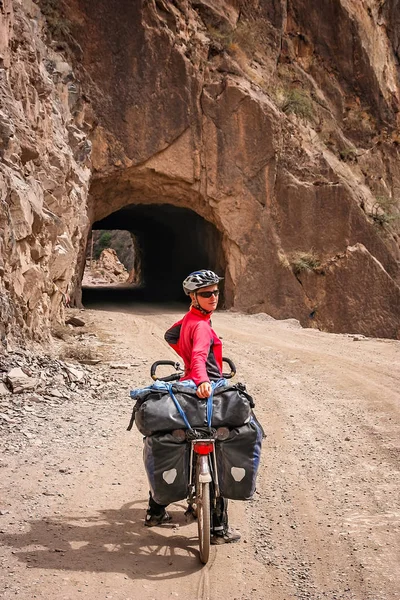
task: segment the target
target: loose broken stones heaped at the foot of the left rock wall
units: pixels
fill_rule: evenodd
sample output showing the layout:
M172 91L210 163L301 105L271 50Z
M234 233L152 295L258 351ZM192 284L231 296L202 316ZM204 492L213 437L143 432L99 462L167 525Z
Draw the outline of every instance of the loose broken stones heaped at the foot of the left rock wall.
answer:
M118 377L110 377L108 365L75 364L28 350L2 354L0 446L11 454L26 444L39 446L40 428L54 420L57 408L73 406L77 400L95 405L98 398L117 392L128 398L126 385L122 387ZM62 418L75 423L73 416ZM99 435L104 437L108 432L101 427Z

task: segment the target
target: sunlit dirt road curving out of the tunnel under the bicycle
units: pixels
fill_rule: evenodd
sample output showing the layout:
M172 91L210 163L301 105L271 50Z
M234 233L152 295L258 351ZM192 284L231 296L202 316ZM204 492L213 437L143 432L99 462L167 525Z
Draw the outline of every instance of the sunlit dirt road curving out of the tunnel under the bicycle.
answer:
M91 369L115 386L44 426L33 416L23 447L3 452L1 598L399 600L400 342L214 315L267 438L254 500L230 503L242 541L202 567L183 503L169 526L143 527L142 438L126 431L129 389L175 358L163 333L181 311L79 314L101 341Z

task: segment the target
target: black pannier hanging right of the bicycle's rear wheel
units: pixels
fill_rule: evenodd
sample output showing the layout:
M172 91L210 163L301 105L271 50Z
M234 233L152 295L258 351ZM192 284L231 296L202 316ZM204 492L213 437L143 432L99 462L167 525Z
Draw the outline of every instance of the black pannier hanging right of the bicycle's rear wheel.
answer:
M256 491L264 432L257 419L232 429L225 441L216 443L221 495L232 500L251 500Z

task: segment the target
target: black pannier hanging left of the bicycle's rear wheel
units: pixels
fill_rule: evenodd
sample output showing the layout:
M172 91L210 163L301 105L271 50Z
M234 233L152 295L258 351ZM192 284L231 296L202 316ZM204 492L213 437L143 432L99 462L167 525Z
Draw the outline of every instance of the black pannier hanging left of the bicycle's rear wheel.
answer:
M158 504L169 504L187 496L190 444L170 433L144 439L143 461L151 494Z

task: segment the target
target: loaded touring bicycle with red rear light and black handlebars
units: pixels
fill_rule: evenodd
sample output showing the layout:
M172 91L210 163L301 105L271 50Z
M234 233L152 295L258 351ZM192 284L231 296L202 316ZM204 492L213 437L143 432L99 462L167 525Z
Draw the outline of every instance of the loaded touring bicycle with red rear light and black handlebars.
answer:
M236 375L236 367L231 359L224 357L230 373L223 373L224 379L231 379ZM157 377L157 368L161 365L172 366L175 373L165 377ZM161 360L153 363L150 369L151 378L154 381L177 381L181 378L183 371L180 364L174 361ZM214 429L211 427L212 396L207 402L207 427L192 428L187 421L186 416L182 418L187 429L175 429L172 435L181 440L190 443L190 462L189 462L189 481L187 502L187 515L192 515L197 520L199 555L203 564L208 562L211 545L211 515L216 508L217 500L220 497L220 488L218 483L218 468L215 452L216 441L223 441L229 436L227 427Z

